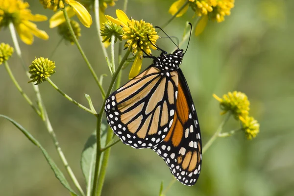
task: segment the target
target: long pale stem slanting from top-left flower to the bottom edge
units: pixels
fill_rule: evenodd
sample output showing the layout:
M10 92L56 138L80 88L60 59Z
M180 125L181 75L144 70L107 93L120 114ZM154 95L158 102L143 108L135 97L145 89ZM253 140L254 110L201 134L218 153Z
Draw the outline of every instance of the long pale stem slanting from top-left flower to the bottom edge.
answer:
M22 57L22 52L21 52L21 49L19 47L19 43L18 43L18 40L17 40L17 37L16 37L16 32L15 32L15 28L13 26L12 23L9 24L9 30L10 30L10 33L11 33L11 37L12 37L12 41L13 41L13 44L14 44L14 47L15 47L15 50L19 56L19 58L21 59L22 61L22 64L25 68L25 61ZM26 70L26 69L25 69ZM26 72L26 75L28 76L28 78L30 77L29 73ZM58 140L57 140L57 137L54 133L54 130L51 126L51 123L49 121L49 118L48 118L48 114L46 112L46 109L45 107L43 107L43 103L42 103L42 97L41 97L41 94L40 94L40 91L39 91L39 87L38 85L34 85L32 84L32 87L34 89L34 92L36 94L36 97L37 97L37 105L39 107L39 110L41 112L41 118L42 118L42 121L46 123L46 128L49 132L49 135L51 136L51 139L53 140L54 142L54 145L55 145L55 148L58 152L58 155L59 157L61 158L62 162L63 162L63 165L65 166L68 174L70 175L71 179L73 180L73 184L75 185L75 187L79 190L79 192L81 193L82 196L85 196L83 190L81 189L81 186L79 185L71 167L69 166L62 150L61 150L61 147L59 146L59 143L58 143Z

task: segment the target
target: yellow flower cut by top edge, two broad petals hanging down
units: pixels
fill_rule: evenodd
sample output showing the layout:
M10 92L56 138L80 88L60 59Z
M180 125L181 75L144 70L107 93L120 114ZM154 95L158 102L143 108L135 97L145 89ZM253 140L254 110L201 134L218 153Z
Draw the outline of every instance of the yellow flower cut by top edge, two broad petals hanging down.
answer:
M69 17L77 16L79 21L85 25L86 27L90 27L92 25L92 17L88 10L78 1L76 0L40 0L45 8L52 9L53 11L57 11L59 8L66 9ZM70 5L65 7L66 4ZM58 26L65 22L65 18L62 11L58 11L54 14L50 22L50 28Z

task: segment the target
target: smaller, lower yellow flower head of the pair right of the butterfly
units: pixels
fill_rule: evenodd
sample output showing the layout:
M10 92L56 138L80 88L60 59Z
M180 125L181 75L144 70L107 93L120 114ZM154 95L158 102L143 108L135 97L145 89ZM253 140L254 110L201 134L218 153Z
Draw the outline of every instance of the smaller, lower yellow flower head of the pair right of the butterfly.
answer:
M242 128L245 131L246 138L251 140L259 133L259 123L253 117L240 117Z

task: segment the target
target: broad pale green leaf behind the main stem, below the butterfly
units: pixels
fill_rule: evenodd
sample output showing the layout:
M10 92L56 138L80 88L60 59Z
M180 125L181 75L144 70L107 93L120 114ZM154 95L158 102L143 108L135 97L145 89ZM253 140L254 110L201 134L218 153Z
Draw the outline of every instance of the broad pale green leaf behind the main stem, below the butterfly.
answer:
M106 140L106 128L105 124L101 124L101 144L105 143ZM96 130L88 138L81 155L81 169L84 174L87 195L92 190L94 172L95 172L95 160L96 160ZM101 165L101 164L100 164Z

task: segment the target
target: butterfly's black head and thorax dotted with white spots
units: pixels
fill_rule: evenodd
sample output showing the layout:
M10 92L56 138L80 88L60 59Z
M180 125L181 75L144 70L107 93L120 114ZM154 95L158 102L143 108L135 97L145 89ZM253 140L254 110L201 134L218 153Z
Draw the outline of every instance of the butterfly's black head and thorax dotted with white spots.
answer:
M161 70L176 70L182 63L183 56L182 49L176 49L172 54L161 52L160 56L153 60L153 64Z

